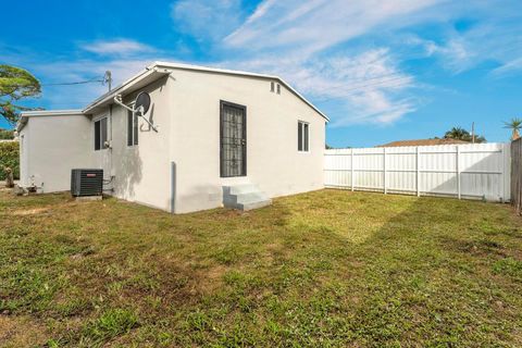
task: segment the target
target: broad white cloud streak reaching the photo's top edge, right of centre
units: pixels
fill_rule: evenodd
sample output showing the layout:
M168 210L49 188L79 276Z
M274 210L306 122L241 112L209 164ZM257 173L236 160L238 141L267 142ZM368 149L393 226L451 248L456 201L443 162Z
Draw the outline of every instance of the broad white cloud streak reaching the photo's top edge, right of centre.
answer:
M442 0L355 0L349 3L346 0L265 0L225 42L232 47L248 45L251 49L297 48L316 52L378 25L407 25L411 21L406 21L405 15L439 2Z

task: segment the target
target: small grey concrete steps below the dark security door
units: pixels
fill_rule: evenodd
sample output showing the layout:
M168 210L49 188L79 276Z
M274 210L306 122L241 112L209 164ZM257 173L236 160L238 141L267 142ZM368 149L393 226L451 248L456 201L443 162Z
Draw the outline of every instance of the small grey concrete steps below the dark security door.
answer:
M272 200L256 185L223 186L223 204L227 208L252 210L271 203Z

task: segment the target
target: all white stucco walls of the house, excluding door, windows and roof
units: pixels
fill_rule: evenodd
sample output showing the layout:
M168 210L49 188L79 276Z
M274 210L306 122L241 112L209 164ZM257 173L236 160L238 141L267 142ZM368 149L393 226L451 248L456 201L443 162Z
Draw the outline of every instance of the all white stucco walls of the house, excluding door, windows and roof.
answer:
M90 116L33 116L21 132L23 181L34 175L44 191L69 190L71 169L103 169L112 195L165 211L222 207L223 186L249 183L270 197L323 188L325 120L285 86L269 78L173 70L139 91L151 96L139 119L139 144L127 146L127 111L111 104ZM220 176L220 102L246 107L247 175ZM107 149L95 150L95 122L108 119ZM310 150L298 151L298 121L309 123ZM64 146L66 145L66 146ZM109 191L105 191L109 194Z

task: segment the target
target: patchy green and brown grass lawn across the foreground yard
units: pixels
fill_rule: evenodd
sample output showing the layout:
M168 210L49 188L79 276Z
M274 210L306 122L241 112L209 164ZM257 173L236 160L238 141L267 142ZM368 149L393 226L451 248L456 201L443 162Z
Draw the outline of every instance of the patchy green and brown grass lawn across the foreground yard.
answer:
M506 204L321 190L240 213L0 192L0 346L522 346Z

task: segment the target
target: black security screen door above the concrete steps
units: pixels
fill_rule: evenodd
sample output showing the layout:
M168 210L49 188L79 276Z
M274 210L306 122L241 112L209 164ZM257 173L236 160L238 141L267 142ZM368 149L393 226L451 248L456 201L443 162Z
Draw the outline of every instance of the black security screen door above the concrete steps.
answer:
M221 176L247 175L247 108L221 102Z

